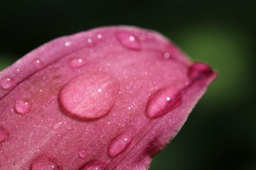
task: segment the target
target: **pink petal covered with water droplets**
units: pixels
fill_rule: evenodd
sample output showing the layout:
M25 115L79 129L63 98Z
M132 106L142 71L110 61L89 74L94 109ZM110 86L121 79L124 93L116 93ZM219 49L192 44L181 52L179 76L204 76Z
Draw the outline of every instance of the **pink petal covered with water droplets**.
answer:
M0 169L147 169L215 78L154 31L54 39L0 73Z

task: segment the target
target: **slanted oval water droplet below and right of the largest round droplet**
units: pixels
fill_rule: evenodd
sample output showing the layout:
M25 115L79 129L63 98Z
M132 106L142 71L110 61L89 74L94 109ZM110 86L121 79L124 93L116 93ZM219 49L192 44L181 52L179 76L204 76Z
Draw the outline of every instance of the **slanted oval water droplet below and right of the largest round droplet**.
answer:
M114 139L111 140L109 147L108 147L108 155L109 157L116 157L120 153L124 152L129 144L132 141L132 136L130 133L122 133L116 136Z

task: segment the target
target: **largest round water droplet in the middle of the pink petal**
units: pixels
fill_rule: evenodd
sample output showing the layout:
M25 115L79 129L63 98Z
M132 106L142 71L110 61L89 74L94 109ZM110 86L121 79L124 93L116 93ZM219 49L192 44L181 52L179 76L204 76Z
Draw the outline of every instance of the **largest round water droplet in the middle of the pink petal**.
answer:
M61 89L59 103L61 110L72 117L97 119L109 113L117 93L115 78L105 73L88 72L76 76Z

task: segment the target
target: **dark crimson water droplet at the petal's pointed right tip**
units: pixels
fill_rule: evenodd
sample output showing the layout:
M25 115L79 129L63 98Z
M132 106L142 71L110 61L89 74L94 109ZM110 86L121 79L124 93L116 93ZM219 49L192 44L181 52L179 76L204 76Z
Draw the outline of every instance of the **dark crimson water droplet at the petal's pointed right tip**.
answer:
M209 67L204 62L196 62L189 68L189 78L195 79L202 79L211 76L213 73L211 67Z

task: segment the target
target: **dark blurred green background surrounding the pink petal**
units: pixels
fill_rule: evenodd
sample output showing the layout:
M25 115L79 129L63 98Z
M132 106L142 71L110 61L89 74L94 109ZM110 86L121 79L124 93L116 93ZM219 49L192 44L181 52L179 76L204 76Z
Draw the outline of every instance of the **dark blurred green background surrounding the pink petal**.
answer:
M219 73L150 170L256 169L256 3L227 1L0 1L0 70L37 46L103 25L168 36Z

